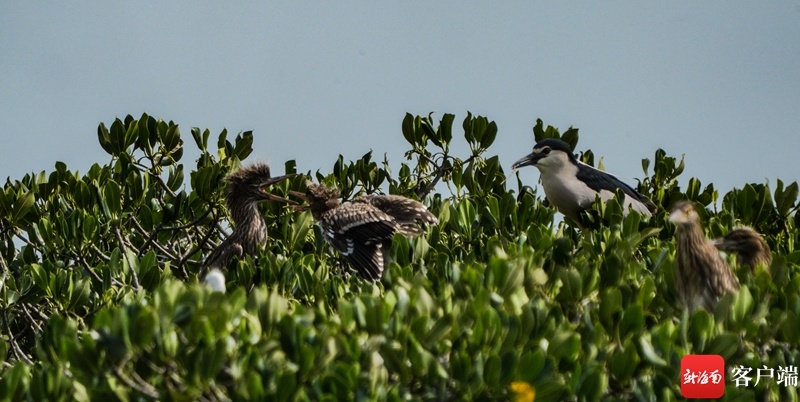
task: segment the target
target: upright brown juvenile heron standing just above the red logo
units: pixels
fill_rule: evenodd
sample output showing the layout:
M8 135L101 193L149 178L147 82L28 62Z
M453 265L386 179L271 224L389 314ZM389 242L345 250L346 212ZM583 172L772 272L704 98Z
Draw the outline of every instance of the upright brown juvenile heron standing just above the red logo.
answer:
M719 298L739 288L730 267L700 226L700 215L691 202L679 201L669 215L675 225L675 290L693 311L713 311Z

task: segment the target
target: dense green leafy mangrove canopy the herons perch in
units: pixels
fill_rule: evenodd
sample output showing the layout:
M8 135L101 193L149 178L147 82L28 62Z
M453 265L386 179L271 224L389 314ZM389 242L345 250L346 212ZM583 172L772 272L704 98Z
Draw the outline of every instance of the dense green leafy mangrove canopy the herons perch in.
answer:
M251 132L209 144L194 128L186 144L172 122L128 116L98 128L107 163L7 180L0 400L666 401L680 398L685 354L753 373L800 366L796 182L742 183L720 200L694 178L681 188L684 161L657 150L638 183L654 216L598 203L578 230L554 221L532 183L507 182L511 161L489 156L494 122L468 114L454 136L454 120L406 115L411 149L397 173L372 153L305 172L345 199L401 194L439 218L420 237L395 236L376 284L343 275L308 212L272 203L270 238L229 265L228 292L198 282L229 226L224 177L251 153ZM533 132L578 142L577 129L538 121ZM451 154L457 140L466 157ZM748 225L774 252L755 273L730 256L742 286L713 312L686 313L674 291L667 215L680 199L709 237ZM726 385L729 399L798 399L777 376Z

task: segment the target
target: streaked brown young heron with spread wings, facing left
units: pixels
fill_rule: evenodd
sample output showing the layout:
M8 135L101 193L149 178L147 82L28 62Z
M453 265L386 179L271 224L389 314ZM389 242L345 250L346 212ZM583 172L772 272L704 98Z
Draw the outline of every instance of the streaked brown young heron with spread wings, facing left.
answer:
M383 276L384 254L395 233L416 236L423 233L421 224L439 221L419 201L399 195L364 195L341 203L338 189L313 182L308 182L305 193L290 194L308 203L298 208L310 210L325 240L372 282Z

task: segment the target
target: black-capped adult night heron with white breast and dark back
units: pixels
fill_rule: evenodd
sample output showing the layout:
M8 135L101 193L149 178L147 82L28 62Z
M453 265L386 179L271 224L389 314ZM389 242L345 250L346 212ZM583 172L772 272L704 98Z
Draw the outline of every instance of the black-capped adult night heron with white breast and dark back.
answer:
M555 138L539 141L533 152L514 162L511 169L535 166L550 204L559 212L580 224L580 213L592 207L596 197L608 201L617 189L625 194L624 214L633 209L652 216L656 205L616 176L579 161L566 142Z

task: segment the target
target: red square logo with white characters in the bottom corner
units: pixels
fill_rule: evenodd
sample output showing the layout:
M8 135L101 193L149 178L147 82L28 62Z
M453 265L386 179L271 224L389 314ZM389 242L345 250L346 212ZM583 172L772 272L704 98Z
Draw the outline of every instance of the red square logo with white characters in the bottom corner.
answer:
M720 355L686 355L681 359L684 398L721 398L725 394L725 360Z

